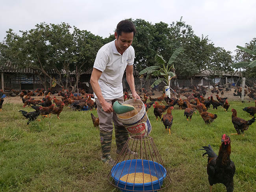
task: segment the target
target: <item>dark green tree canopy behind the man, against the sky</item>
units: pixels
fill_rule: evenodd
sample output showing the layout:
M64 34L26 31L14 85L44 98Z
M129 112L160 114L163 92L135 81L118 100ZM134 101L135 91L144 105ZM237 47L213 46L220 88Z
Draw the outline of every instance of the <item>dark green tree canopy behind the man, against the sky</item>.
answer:
M137 33L132 46L135 49L134 67L141 71L149 66L156 66L155 55L170 58L180 46L184 48L174 61L177 77L190 78L206 69L213 75L217 72L232 70L230 52L215 47L208 36L198 37L192 26L180 18L167 24L152 24L143 19L131 19ZM80 30L68 23L35 25L35 28L20 31L6 31L4 41L0 43L0 64L10 61L21 68L35 69L42 78L52 78L54 70L59 74L57 83L67 87L70 73L78 68L78 79L86 70L93 67L99 48L115 39L113 34L102 38L90 31ZM248 47L255 45L255 38ZM252 55L237 51L236 60L251 60ZM63 71L65 74L63 75ZM62 75L61 75L62 74Z

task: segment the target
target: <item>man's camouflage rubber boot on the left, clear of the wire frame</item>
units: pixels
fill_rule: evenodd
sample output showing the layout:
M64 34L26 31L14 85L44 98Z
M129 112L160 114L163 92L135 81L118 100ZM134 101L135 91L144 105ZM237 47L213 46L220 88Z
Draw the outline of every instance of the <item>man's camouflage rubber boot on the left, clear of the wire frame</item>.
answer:
M101 150L102 150L102 155L100 159L106 164L109 164L110 166L114 166L115 161L112 159L110 155L111 142L112 142L112 131L110 132L100 131L100 144L101 144Z

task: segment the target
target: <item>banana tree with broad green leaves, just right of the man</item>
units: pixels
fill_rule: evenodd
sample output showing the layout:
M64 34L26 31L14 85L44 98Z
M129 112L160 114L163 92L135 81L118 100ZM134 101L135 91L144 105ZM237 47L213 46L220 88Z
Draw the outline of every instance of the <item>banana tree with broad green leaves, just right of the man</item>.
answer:
M156 54L155 61L158 63L158 65L145 68L141 72L139 72L139 74L142 75L147 73L146 79L148 79L152 74L154 74L155 76L158 76L158 79L151 85L152 88L156 85L159 85L159 83L161 83L162 81L164 81L167 86L170 86L171 78L176 76L175 73L171 71L171 70L174 71L173 62L178 57L178 55L182 52L182 50L183 48L179 47L176 51L174 51L168 63L166 63L162 55Z

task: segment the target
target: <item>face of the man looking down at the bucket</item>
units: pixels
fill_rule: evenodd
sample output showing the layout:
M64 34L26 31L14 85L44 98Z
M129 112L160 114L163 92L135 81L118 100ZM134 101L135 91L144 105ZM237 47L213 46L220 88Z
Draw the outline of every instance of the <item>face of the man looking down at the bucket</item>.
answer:
M118 37L117 32L115 32L115 39L117 39L117 41L115 41L117 51L122 54L132 44L132 40L134 39L134 32L122 32Z

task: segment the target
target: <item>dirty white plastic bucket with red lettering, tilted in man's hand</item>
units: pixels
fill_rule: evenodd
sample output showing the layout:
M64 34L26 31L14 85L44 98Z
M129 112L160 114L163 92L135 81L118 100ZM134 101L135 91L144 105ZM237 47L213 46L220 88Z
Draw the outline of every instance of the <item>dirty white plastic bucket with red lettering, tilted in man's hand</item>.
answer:
M149 122L145 104L141 100L134 101L133 99L127 100L122 104L129 104L135 107L139 113L127 119L120 118L120 116L129 116L130 112L117 114L118 120L124 125L131 136L133 135L149 135L151 132L151 124Z

